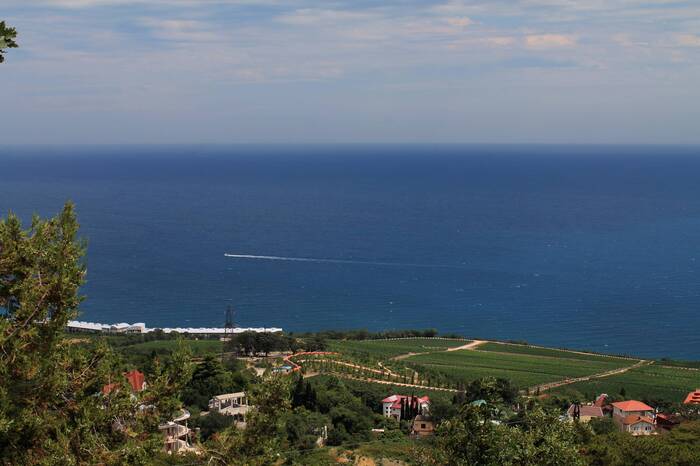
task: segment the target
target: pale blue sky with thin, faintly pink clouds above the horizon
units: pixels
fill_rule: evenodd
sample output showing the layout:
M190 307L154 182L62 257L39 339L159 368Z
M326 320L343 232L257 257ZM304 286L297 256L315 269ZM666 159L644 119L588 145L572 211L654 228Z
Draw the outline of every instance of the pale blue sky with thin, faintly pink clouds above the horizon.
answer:
M700 1L0 0L0 143L700 143Z

